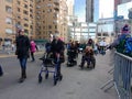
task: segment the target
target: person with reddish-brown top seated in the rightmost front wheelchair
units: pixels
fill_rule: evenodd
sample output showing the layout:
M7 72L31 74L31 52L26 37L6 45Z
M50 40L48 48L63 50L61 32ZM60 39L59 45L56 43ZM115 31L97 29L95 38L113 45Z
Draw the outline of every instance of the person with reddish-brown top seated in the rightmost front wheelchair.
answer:
M89 68L90 64L94 65L95 68L95 56L94 50L90 46L87 46L82 53L80 67L84 68L85 62L87 62L87 68Z

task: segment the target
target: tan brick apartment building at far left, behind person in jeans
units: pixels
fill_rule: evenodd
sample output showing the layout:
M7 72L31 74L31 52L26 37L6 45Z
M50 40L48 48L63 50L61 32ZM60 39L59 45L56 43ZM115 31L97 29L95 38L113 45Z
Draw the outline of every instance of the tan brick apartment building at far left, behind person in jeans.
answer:
M0 40L11 44L18 29L24 29L29 36L35 36L35 0L0 0Z

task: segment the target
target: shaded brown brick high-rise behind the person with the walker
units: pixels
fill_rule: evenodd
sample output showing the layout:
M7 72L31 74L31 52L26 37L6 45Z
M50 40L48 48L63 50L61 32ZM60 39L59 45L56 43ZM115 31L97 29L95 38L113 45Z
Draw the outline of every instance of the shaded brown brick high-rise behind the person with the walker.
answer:
M36 38L48 38L56 32L67 41L66 0L36 0Z

